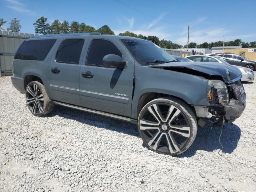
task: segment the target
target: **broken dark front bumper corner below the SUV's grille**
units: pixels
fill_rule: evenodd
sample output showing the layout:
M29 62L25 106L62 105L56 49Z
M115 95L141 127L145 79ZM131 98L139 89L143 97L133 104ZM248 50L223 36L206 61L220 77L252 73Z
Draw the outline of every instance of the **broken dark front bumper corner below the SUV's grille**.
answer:
M242 103L238 100L230 100L230 103L224 107L224 111L226 112L224 116L224 121L229 123L236 120L236 118L240 117L246 107L246 102Z

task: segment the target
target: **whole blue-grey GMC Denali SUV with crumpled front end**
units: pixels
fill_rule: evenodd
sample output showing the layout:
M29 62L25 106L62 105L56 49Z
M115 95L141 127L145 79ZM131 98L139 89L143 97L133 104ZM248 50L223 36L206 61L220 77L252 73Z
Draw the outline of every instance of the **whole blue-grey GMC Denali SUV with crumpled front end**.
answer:
M82 33L25 40L12 84L35 116L57 104L132 122L148 148L178 155L198 126L223 126L242 114L240 78L229 64L177 62L147 40Z

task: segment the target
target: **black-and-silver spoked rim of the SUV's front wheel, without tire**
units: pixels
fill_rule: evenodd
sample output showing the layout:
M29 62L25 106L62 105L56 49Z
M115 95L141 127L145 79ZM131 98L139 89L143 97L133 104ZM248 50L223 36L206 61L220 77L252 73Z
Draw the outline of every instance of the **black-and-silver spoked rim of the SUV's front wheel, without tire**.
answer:
M155 112L157 113L156 110L159 110L159 108L157 108L157 105L169 105L170 106L168 113L166 115L166 119L164 119L163 116L161 116L161 115L160 116L158 115L157 117L155 117L156 120L158 118L158 122L149 122L148 120L145 120L142 118L144 116L144 113L148 110L148 108L154 108ZM174 114L172 114L172 111L174 109L176 110L177 113L174 112ZM158 114L160 114L160 113L158 112ZM178 127L176 125L176 127L175 127L172 124L174 122L174 120L176 120L178 118L177 115L178 116L182 115L182 117L186 121L186 126ZM177 118L175 118L176 116L177 116ZM147 126L145 126L145 124L144 124L145 122L147 123L148 127L156 130L156 134L152 135L152 137L150 138L149 141L146 140L146 138L144 138L143 134L142 134L147 128ZM164 127L164 129L162 129L162 126L165 124L168 125L167 130L164 130L165 127ZM148 146L150 149L152 149L158 153L161 153L161 154L170 154L170 155L179 154L179 152L187 146L188 141L192 136L192 124L189 124L188 118L186 117L186 115L177 106L174 106L168 102L160 102L160 103L155 103L155 104L150 104L148 106L145 106L144 110L142 111L142 114L140 114L140 118L138 120L138 128L139 128L138 130L140 132L142 140L144 141L146 146ZM174 138L173 132L176 135L181 136L181 132L178 132L179 129L182 130L182 134L184 134L184 130L185 130L185 134L182 137L186 138L186 140L182 143L177 144L176 139ZM164 147L168 148L168 152L163 151L163 150L160 151L158 148L162 138L166 139L167 144Z

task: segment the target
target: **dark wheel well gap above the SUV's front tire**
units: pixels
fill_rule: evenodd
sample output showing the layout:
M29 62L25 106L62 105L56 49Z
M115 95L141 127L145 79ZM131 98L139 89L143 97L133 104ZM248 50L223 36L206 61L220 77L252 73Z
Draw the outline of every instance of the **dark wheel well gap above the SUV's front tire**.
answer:
M195 108L188 104L185 100L181 99L181 98L178 98L176 96L172 96L172 95L168 95L168 94L162 94L162 93L144 93L142 96L140 96L140 99L139 99L139 102L138 102L138 107L137 107L137 118L140 114L140 111L142 110L142 108L150 101L156 99L156 98L159 98L159 97L166 97L166 96L171 96L173 98L176 98L184 103L186 103L190 108L191 110L194 112L195 116L196 116L196 110Z

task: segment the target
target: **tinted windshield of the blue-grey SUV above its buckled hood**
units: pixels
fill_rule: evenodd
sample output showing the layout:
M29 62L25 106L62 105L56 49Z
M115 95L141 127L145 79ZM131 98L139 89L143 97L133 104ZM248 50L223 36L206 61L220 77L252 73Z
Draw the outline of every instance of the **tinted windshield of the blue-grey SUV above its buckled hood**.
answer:
M121 41L136 62L141 65L176 61L162 48L150 41L137 39L122 39Z

